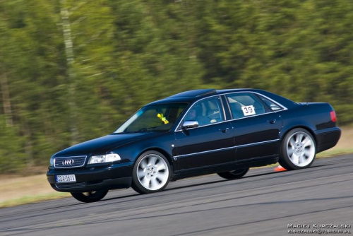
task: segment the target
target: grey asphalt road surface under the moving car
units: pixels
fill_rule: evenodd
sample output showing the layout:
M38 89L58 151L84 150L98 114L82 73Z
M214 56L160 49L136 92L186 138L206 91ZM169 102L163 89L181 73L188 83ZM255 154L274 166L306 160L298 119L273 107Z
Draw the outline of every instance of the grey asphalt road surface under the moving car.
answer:
M306 170L273 169L250 170L232 181L217 175L183 179L157 194L110 191L97 203L68 198L1 208L0 235L273 236L303 230L293 225L353 234L352 228L314 228L352 227L353 155L318 159Z

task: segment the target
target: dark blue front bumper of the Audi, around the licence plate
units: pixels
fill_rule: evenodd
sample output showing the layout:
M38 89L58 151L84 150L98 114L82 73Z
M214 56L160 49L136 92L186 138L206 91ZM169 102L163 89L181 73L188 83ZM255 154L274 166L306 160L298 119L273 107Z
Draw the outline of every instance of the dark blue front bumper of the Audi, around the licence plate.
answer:
M54 169L47 172L49 184L56 191L85 192L131 187L133 163L119 163L76 169ZM75 175L76 182L56 183L56 175Z

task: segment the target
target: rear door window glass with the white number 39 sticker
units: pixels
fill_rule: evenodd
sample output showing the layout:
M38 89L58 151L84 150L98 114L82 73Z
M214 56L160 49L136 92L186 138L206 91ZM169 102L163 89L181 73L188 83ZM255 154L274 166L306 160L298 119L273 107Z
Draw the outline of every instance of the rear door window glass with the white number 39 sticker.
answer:
M227 95L233 119L249 117L266 112L265 105L252 93L233 93Z

